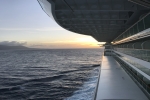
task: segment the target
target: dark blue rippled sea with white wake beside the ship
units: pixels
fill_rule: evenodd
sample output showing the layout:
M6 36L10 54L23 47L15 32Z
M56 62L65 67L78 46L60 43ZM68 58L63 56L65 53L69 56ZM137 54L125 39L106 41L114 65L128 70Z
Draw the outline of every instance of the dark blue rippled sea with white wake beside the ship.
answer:
M0 51L0 100L92 100L102 51Z

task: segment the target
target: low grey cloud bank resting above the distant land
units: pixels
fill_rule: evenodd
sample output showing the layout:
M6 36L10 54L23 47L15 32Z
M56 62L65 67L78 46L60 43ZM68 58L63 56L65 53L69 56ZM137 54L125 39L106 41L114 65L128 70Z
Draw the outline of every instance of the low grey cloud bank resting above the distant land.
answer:
M17 42L17 41L2 41L0 45L7 45L7 46L23 46L26 45L27 42Z

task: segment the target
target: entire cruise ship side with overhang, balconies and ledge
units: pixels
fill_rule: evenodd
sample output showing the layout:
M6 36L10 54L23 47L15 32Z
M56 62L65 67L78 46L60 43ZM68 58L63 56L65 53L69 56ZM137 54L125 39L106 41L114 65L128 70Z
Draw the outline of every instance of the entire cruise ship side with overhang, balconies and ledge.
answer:
M107 42L96 100L150 99L150 0L38 0L61 27Z

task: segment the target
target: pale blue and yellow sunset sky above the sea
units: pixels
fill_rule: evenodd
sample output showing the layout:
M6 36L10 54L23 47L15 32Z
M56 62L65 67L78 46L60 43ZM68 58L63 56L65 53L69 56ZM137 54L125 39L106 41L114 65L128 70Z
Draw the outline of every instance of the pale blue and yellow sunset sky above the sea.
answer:
M94 38L61 28L37 0L0 0L0 44L31 48L99 48Z

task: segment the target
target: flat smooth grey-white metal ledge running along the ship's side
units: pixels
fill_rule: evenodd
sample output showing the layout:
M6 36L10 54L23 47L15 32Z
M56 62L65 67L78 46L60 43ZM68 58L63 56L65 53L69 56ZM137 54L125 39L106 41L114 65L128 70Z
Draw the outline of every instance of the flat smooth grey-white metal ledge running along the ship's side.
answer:
M96 100L148 100L119 63L103 56Z

